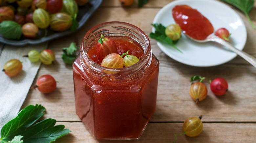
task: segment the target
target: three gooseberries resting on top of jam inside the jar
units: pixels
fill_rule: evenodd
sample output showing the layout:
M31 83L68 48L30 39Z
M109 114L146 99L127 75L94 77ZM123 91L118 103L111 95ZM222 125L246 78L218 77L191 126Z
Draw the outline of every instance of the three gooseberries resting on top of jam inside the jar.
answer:
M129 51L123 53L121 56L117 54L116 43L111 39L104 38L103 35L101 35L98 43L96 44L96 51L98 59L101 61L101 66L107 68L118 69L123 68L124 66L129 67L139 61L137 56L128 55Z

